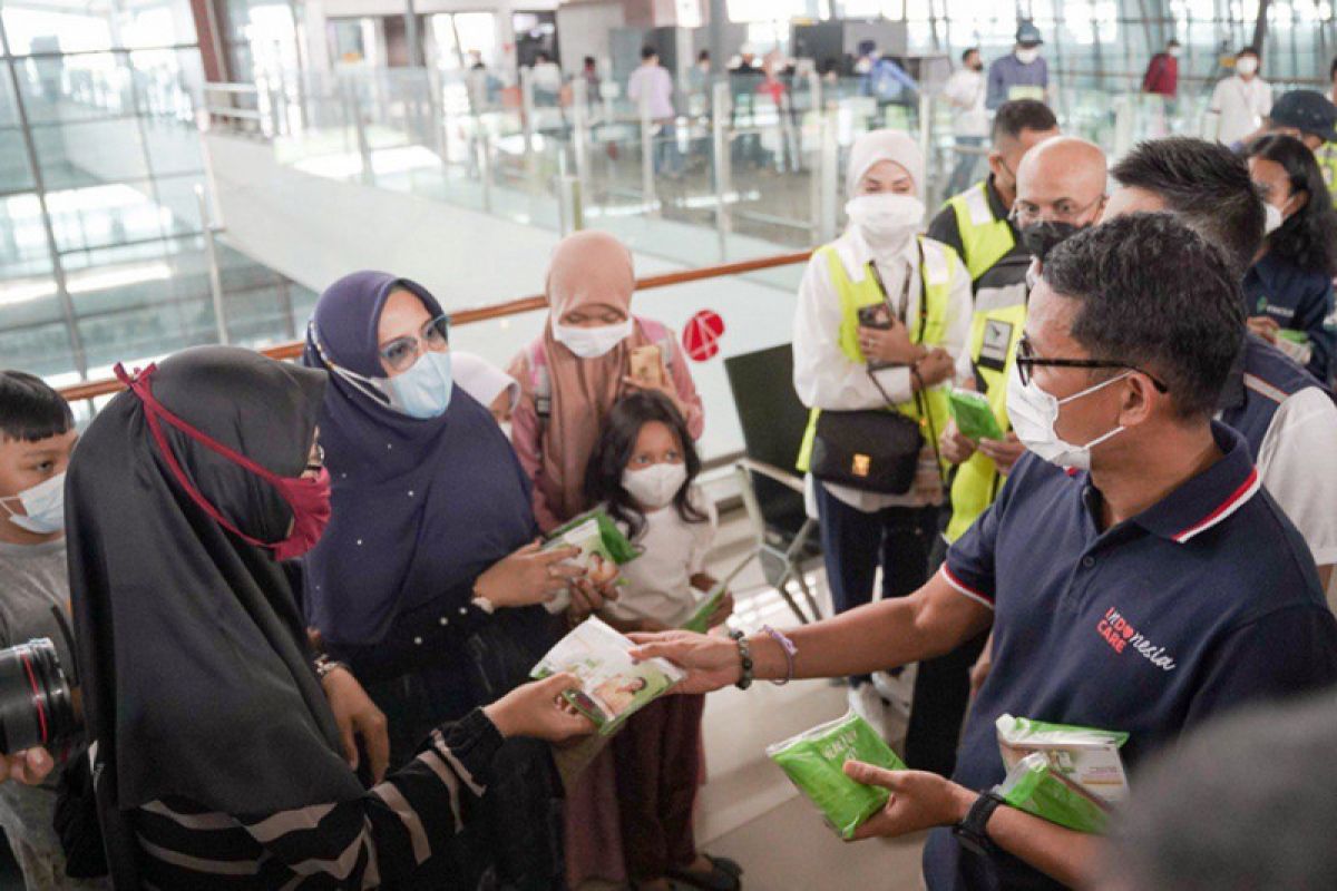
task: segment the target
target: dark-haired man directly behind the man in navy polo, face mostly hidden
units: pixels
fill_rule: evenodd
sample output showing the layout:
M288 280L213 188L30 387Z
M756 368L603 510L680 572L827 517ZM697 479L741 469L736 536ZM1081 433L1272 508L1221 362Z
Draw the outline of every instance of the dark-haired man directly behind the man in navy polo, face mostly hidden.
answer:
M1181 136L1139 143L1110 172L1118 188L1104 220L1169 211L1221 250L1243 281L1263 247L1265 220L1243 158L1219 143ZM1242 339L1218 419L1245 437L1262 485L1305 537L1326 588L1337 564L1337 406L1281 350L1243 331Z

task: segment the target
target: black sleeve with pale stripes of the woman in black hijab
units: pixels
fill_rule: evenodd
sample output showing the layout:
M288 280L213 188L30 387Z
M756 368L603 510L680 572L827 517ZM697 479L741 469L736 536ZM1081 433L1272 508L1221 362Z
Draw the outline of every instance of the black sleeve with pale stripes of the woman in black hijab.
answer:
M397 886L429 858L459 856L456 835L477 811L501 736L475 709L433 731L422 751L364 797L237 816L263 850L310 887ZM308 887L302 882L299 887Z

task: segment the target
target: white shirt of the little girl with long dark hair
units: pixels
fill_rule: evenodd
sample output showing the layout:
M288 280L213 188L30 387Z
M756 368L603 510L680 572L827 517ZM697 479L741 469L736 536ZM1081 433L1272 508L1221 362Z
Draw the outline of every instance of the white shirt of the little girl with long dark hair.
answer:
M622 621L651 618L678 628L697 610L702 594L694 593L690 580L706 565L719 517L697 486L689 497L706 521L686 522L673 505L647 513L646 528L635 541L644 553L622 566L626 584L603 612Z

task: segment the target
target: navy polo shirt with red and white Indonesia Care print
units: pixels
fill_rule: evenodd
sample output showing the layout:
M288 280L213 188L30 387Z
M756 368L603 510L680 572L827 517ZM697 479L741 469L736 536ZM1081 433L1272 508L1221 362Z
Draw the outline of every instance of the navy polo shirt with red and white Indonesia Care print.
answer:
M1223 709L1337 683L1337 620L1309 549L1239 434L1211 431L1217 464L1104 532L1090 476L1027 454L952 545L944 577L995 610L957 783L1003 780L1004 712L1126 731L1131 771ZM929 838L924 874L932 891L1062 887L1012 856L971 854L951 830Z

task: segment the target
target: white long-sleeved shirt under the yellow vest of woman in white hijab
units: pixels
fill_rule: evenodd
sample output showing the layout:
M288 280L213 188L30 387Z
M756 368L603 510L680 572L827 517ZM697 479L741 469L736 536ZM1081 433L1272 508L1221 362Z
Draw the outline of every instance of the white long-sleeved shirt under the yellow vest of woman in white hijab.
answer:
M853 282L862 282L868 262L877 263L886 293L893 305L905 287L905 277L910 277L909 301L905 318L910 319L910 330L917 326L920 297L919 244L910 239L905 247L892 256L873 258L873 251L858 234L849 228L836 242L836 252L845 266L845 273ZM952 294L947 306L947 329L943 349L952 359L960 359L965 341L971 333L971 277L959 258L953 258ZM841 305L836 286L830 281L826 258L814 255L808 262L804 281L798 286L798 309L794 314L794 390L798 399L809 409L832 411L857 411L878 409L890 399L893 403L909 402L915 398L909 367L893 367L868 373L868 366L852 362L840 349ZM877 383L873 382L873 375ZM881 385L881 390L878 390ZM885 390L886 395L882 395ZM941 431L940 431L941 433ZM927 443L931 445L931 443ZM826 485L826 484L822 484ZM813 480L808 477L809 514L816 516ZM904 496L860 492L846 486L826 485L832 496L849 506L873 513L890 506L924 506L941 502L941 486L936 497L916 486Z

